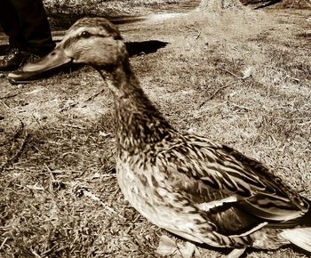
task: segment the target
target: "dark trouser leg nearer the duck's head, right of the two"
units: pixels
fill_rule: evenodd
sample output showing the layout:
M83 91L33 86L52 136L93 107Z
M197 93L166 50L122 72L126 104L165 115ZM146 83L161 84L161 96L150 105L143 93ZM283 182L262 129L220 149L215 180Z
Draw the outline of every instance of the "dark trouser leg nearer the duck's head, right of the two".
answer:
M55 44L42 0L11 0L11 3L18 13L27 51L39 55L52 51Z

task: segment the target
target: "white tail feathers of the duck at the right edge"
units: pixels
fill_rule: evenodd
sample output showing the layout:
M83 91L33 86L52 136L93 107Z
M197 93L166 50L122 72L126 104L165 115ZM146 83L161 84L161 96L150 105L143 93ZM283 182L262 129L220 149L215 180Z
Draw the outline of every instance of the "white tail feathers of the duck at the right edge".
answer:
M295 246L311 252L311 228L283 230L280 236L289 240Z

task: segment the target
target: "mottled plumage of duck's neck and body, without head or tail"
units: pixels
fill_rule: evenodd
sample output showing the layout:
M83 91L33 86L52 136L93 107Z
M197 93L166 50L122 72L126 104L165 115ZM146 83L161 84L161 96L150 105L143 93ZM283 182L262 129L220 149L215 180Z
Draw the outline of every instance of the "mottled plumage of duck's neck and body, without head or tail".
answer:
M120 83L122 77L127 83ZM256 160L171 128L131 72L125 76L119 69L112 78L111 85L117 82L122 96L115 98L118 181L140 214L165 230L211 246L271 249L288 243L278 238L278 230L267 227L234 236L265 220L274 224L299 217L308 210L306 199ZM234 203L202 209L203 204L231 197L236 198ZM267 237L255 241L266 231Z

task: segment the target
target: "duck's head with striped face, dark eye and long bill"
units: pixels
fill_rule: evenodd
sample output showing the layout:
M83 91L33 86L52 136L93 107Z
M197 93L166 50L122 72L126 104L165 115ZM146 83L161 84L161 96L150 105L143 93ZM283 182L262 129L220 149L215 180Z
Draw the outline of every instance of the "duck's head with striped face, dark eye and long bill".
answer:
M23 67L24 72L43 72L68 62L109 68L127 58L119 30L104 18L83 18L68 29L62 41L43 59Z

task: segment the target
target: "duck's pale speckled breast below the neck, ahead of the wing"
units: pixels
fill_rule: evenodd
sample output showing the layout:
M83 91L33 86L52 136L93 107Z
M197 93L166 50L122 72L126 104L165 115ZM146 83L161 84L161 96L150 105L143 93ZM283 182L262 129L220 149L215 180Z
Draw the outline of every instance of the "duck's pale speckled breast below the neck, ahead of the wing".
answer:
M202 243L200 235L211 226L196 206L175 191L167 174L143 160L139 156L117 160L117 180L124 198L158 227Z

